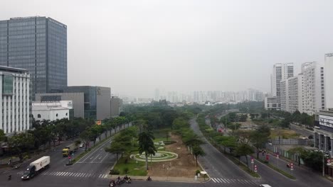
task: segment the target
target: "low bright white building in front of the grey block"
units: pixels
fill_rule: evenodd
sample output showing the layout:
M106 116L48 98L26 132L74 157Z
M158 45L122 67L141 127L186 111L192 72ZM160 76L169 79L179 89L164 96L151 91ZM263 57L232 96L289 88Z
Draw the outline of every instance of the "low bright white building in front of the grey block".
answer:
M32 103L32 113L35 120L60 120L70 118L70 109L73 109L72 101L52 101Z

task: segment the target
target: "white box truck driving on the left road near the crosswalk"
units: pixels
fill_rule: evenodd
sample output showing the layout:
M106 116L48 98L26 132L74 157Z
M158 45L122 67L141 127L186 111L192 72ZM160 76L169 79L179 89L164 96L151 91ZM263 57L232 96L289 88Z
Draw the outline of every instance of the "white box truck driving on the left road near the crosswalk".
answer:
M44 156L40 159L31 162L26 170L23 172L23 176L21 176L22 180L31 179L37 174L41 173L44 169L47 169L50 166L50 156Z

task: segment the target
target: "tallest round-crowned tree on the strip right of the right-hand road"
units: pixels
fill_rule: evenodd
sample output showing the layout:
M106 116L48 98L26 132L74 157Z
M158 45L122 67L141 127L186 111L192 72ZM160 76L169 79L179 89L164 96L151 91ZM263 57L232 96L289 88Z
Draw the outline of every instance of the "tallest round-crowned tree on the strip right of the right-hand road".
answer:
M257 149L257 159L259 158L259 149L265 147L270 136L270 128L266 125L260 125L259 128L250 134L250 142Z

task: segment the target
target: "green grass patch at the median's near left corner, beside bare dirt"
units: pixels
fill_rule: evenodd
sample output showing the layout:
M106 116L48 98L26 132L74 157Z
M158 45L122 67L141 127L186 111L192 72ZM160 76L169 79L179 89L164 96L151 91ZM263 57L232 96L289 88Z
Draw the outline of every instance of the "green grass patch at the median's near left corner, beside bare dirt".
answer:
M120 175L147 176L145 166L145 162L136 162L129 157L122 157L118 160L113 170L119 171Z

